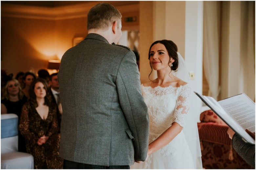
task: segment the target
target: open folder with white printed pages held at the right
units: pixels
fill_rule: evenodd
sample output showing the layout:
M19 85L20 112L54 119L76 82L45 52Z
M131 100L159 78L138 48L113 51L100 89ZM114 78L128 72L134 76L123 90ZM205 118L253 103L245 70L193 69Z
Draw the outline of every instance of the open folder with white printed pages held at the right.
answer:
M246 142L255 144L255 140L245 131L255 132L255 103L245 93L220 101L196 95Z

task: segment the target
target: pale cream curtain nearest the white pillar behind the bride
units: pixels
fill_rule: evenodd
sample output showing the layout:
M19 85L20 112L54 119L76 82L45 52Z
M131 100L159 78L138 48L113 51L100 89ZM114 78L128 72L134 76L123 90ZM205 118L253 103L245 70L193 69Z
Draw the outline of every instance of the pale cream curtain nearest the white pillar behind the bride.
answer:
M219 95L220 3L203 2L203 71L209 85L208 96Z

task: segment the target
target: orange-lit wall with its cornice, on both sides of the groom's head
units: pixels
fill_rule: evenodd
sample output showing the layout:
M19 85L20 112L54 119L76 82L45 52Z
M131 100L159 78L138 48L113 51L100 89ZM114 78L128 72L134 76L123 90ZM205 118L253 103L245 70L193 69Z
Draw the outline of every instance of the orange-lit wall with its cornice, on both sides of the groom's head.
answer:
M49 59L61 59L75 37L87 35L87 13L98 1L46 8L1 3L1 69L14 76L19 71L37 73ZM125 17L123 30L139 29L139 2L112 2ZM123 4L127 5L123 5ZM53 70L48 70L50 73Z

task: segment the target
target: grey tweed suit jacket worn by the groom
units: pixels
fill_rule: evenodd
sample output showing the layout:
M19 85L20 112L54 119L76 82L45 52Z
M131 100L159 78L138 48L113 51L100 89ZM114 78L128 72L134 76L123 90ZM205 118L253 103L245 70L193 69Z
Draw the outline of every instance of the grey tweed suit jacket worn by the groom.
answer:
M135 54L88 34L62 57L59 155L95 165L131 165L147 156L149 118Z

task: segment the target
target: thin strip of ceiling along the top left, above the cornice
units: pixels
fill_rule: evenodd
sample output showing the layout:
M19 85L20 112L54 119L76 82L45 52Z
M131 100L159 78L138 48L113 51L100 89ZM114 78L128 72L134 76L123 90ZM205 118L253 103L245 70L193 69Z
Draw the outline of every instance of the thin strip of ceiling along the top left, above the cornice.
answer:
M22 6L34 6L34 7L64 7L70 5L84 4L84 3L92 3L92 2L107 2L114 6L120 5L130 5L130 4L138 4L139 1L1 1L2 4L9 5L22 5Z

